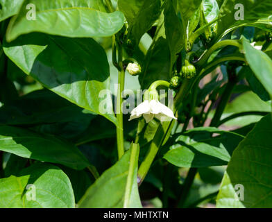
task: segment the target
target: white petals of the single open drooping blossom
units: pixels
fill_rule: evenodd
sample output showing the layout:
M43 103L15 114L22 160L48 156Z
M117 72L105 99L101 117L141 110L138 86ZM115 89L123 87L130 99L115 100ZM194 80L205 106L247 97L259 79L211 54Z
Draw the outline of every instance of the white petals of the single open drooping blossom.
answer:
M176 119L171 109L154 99L151 101L145 100L143 103L140 103L131 112L129 120L142 116L146 120L146 123L150 122L154 117L160 121L171 121L172 119Z

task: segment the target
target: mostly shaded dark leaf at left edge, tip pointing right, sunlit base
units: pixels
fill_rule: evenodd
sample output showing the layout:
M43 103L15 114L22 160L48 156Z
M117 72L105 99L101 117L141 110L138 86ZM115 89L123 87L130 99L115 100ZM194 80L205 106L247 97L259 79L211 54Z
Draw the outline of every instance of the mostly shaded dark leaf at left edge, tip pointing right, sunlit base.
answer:
M0 151L73 169L90 165L76 146L50 135L12 126L0 126Z

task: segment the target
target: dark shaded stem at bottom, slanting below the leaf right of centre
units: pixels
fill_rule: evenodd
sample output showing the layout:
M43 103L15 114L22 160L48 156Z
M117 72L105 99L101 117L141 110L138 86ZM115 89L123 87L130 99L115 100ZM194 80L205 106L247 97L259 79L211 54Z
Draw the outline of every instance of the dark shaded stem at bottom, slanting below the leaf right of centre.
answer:
M183 208L185 201L187 199L187 196L189 194L189 190L194 182L194 177L196 176L197 168L191 167L189 169L188 175L185 179L185 182L183 184L183 188L180 194L180 197L178 198L178 207Z

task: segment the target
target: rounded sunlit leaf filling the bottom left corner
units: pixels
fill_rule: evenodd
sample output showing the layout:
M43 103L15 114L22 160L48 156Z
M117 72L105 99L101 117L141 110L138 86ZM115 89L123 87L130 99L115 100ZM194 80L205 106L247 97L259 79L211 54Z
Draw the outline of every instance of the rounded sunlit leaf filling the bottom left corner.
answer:
M2 208L74 208L71 182L51 164L33 164L17 176L0 179Z

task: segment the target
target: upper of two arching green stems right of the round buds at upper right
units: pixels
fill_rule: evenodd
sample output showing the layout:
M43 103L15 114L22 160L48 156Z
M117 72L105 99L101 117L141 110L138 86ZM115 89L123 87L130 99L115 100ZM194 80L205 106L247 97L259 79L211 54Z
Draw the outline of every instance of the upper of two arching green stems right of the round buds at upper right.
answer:
M210 47L210 49L208 49L203 54L203 56L201 56L201 58L199 58L199 60L196 62L196 65L198 65L199 67L203 67L205 62L207 62L207 60L210 58L212 53L214 53L214 51L216 51L217 49L223 48L225 46L237 46L240 49L242 44L239 40L223 40L221 42L217 42L212 47Z

